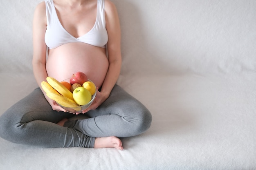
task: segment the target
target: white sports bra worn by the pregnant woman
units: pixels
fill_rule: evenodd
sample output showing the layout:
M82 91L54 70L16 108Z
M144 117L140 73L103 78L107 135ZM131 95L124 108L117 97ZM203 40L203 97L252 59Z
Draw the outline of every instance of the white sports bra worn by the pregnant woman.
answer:
M79 38L68 33L58 19L53 0L45 0L47 27L45 32L45 43L49 49L55 49L70 42L84 42L93 46L106 48L108 33L106 30L104 0L97 0L97 17L92 29Z

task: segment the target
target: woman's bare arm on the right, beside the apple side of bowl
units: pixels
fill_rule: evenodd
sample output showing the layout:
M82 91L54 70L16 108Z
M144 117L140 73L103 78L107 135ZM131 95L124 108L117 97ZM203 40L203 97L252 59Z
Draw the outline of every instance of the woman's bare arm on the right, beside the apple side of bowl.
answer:
M101 86L101 92L97 92L96 102L88 109L83 110L83 113L86 113L88 110L96 109L109 97L121 71L121 30L117 9L110 0L105 0L105 18L106 29L108 31L107 48L109 67Z

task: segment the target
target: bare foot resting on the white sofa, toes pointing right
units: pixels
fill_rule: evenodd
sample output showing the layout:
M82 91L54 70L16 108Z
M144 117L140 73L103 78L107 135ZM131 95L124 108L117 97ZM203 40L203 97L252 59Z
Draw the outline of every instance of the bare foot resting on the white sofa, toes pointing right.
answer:
M116 148L123 150L122 141L115 137L99 137L95 139L94 148Z

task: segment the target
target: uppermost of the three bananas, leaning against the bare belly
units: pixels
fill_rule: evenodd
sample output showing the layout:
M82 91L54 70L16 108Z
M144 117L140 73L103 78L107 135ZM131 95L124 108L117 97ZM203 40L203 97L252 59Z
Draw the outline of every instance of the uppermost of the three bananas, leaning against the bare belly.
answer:
M58 91L58 93L61 93L61 95L74 100L71 91L69 91L63 84L58 82L58 80L54 79L53 77L47 77L46 80L56 91Z

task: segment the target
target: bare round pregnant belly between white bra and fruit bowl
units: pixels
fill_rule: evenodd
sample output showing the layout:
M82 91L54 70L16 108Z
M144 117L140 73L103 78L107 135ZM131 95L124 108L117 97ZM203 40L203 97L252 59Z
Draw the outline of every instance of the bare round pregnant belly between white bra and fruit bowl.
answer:
M58 81L81 71L101 87L108 71L106 49L80 42L64 44L49 50L46 70L48 76Z

